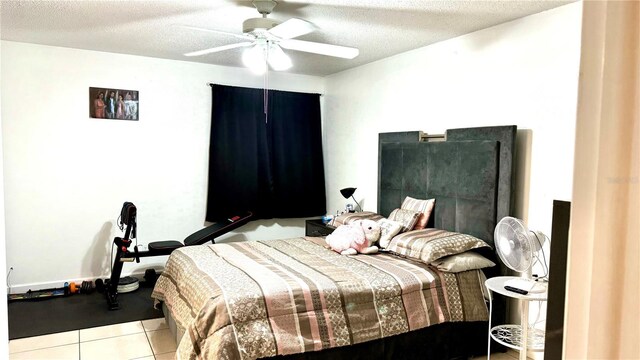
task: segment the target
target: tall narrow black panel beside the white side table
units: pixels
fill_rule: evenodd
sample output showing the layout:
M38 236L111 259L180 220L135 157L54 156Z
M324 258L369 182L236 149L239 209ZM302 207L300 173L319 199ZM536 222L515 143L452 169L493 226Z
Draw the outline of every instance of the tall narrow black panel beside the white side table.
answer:
M547 295L547 324L544 339L545 360L562 358L564 342L564 300L567 286L567 247L571 203L553 201L551 223L551 254L549 258L549 293Z

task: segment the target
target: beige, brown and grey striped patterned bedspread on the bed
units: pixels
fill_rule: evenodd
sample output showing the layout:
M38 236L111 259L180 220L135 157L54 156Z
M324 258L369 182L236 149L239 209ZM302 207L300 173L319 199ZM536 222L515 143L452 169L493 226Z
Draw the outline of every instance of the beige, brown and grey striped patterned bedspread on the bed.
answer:
M486 321L478 271L390 254L343 256L319 238L189 246L152 296L185 335L179 359L322 350L448 321Z

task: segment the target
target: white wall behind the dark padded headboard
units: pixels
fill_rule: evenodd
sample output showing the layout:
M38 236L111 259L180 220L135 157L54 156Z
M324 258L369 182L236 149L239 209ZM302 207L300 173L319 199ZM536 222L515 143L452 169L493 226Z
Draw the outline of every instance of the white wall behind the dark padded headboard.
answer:
M380 132L517 125L514 215L550 234L553 200L571 200L581 18L572 3L328 77L327 209L356 186L376 210Z

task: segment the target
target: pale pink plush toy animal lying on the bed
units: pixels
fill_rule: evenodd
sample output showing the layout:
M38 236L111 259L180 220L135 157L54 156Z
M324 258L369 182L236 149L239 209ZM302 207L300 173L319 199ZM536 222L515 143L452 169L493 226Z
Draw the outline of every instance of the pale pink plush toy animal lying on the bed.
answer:
M373 220L356 220L340 225L329 236L327 244L342 255L375 254L378 247L372 245L380 239L380 225Z

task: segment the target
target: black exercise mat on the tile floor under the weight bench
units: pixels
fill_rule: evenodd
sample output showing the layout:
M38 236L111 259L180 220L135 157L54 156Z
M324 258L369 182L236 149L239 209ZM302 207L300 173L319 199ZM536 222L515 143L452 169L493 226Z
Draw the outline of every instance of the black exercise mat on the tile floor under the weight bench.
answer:
M9 339L162 317L162 311L153 308L152 290L140 287L120 294L122 308L118 311L109 311L104 294L97 292L11 302L8 305Z

